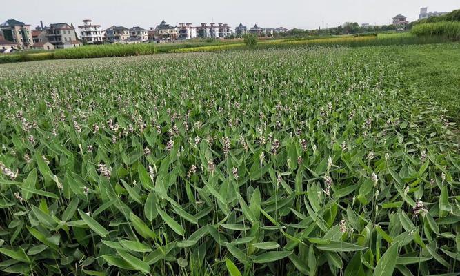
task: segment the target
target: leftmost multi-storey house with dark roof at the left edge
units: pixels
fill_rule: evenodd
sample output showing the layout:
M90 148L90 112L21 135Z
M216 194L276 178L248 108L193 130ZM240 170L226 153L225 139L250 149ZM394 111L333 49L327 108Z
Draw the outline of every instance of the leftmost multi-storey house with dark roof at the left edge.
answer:
M32 41L32 30L30 25L15 19L9 19L0 24L3 32L3 39L19 45L19 48L30 48Z

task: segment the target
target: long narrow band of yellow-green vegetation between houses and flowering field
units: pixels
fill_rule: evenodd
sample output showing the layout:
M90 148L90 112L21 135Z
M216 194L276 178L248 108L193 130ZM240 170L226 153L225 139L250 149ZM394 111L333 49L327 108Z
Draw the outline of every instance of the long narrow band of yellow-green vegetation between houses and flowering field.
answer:
M21 61L38 61L43 59L86 59L94 57L126 57L136 55L150 55L154 53L168 52L212 52L224 50L247 50L247 49L273 49L273 48L305 48L308 46L384 46L384 45L408 45L441 43L451 41L452 37L445 35L423 35L416 36L409 33L388 33L388 34L355 34L354 36L330 36L330 37L308 37L289 39L270 39L257 41L252 35L245 40L236 39L230 41L190 41L183 43L164 44L112 44L103 46L83 46L56 50L54 52L28 53L20 55L1 55L0 63L13 63Z

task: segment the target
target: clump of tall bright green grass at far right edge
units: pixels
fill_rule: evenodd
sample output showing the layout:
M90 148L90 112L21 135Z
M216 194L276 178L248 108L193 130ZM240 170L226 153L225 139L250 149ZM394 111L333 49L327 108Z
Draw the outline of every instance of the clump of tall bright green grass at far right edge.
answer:
M449 39L460 39L460 22L459 21L442 21L435 23L424 23L414 26L412 34L417 37L441 36Z

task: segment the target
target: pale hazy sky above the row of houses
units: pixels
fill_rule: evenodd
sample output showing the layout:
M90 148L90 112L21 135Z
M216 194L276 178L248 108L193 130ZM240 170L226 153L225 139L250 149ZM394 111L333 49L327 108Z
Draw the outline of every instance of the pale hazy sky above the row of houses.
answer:
M17 19L32 25L68 22L77 27L82 19L92 19L103 28L112 25L154 27L165 19L176 25L190 22L223 22L245 26L314 29L339 26L346 21L388 24L403 14L418 19L420 7L448 12L460 8L459 0L22 0L1 5L0 21ZM10 1L10 3L12 3Z

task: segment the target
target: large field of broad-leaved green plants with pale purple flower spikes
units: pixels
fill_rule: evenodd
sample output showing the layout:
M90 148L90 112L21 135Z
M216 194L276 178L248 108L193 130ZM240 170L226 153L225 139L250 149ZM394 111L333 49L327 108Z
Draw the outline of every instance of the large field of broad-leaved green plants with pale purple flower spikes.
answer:
M390 55L1 65L0 275L459 275L459 132Z

